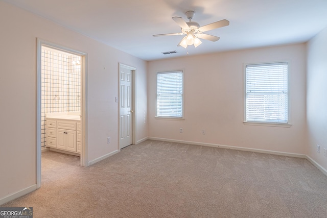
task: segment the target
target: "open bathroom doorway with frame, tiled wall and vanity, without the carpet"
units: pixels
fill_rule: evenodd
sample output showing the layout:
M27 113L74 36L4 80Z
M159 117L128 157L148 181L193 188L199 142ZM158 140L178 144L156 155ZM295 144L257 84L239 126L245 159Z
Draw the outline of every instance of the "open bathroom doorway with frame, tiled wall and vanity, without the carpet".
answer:
M80 53L38 40L37 187L41 152L52 150L85 158L85 58Z

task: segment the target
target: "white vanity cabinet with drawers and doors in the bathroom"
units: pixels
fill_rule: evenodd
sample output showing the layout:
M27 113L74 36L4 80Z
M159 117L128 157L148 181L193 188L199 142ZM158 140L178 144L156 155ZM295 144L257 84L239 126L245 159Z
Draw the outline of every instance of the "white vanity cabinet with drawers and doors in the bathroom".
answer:
M80 121L48 118L46 122L48 147L81 153Z

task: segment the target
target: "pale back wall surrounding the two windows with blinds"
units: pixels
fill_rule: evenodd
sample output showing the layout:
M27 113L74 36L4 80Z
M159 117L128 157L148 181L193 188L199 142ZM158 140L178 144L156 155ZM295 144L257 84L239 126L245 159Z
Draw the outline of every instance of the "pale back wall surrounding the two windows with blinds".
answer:
M243 64L290 60L290 128L243 124ZM183 69L183 121L155 118L156 72ZM305 154L306 45L149 62L149 137ZM183 128L183 133L179 133ZM205 129L205 135L201 130Z

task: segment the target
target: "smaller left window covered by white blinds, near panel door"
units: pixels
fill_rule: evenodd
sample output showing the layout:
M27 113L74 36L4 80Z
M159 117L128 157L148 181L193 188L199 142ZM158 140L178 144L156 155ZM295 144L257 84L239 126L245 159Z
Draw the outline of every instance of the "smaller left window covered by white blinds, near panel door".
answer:
M156 117L183 117L183 72L157 73Z

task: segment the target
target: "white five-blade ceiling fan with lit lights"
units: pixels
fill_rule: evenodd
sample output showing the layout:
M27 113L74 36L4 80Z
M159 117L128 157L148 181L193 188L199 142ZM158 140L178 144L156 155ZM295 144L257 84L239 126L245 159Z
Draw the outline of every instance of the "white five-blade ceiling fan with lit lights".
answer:
M203 32L229 25L229 21L223 19L200 27L199 23L192 21L194 14L194 11L187 11L185 13L186 17L188 17L190 20L189 22L185 22L181 17L172 17L172 19L181 27L180 33L157 34L153 36L175 36L186 34L186 36L177 45L186 49L188 45L194 45L195 47L199 46L202 43L200 39L206 39L213 42L218 41L220 37L204 34Z

